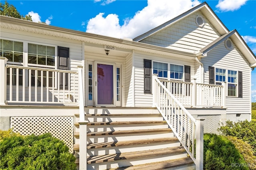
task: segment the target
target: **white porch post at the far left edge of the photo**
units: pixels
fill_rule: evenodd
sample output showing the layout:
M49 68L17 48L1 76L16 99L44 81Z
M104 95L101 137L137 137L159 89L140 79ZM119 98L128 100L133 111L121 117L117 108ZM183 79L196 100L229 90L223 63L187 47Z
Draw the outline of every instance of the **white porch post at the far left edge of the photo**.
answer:
M5 105L6 102L7 61L6 57L0 57L0 105Z

